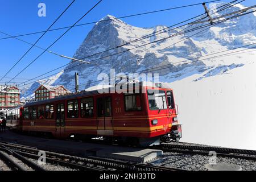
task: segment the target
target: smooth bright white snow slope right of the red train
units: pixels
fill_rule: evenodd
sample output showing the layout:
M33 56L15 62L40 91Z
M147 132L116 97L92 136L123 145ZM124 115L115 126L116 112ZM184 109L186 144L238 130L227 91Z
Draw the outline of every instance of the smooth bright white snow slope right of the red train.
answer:
M243 55L243 61L243 67L226 74L172 83L182 142L256 150L255 52Z

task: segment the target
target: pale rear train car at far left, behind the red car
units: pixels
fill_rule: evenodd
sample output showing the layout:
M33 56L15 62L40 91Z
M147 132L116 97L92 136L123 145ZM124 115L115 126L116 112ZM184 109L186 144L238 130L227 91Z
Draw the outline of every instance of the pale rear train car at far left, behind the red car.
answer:
M20 116L20 107L14 107L7 110L7 122L6 126L10 129L18 130L19 129L19 117Z

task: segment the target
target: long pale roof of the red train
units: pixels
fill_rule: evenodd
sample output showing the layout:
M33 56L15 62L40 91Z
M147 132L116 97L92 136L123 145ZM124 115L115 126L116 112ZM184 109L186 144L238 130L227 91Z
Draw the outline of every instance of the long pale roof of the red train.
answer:
M171 89L171 84L163 83L163 82L158 82L158 83L148 82L148 81L133 82L133 83L126 84L127 88L129 88L129 85L131 85L131 84L134 86L140 86L140 87ZM85 89L79 93L68 94L66 96L57 96L55 98L51 98L51 99L43 100L43 101L28 102L24 105L24 107L33 106L33 105L43 105L43 104L47 104L47 103L51 103L51 102L55 102L55 101L61 101L61 100L72 100L77 97L93 96L93 95L99 94L99 92L98 92L99 89L109 89L109 93L110 93L110 91L111 91L110 89L112 87L113 87L113 85L96 85L96 86L92 86L88 89Z

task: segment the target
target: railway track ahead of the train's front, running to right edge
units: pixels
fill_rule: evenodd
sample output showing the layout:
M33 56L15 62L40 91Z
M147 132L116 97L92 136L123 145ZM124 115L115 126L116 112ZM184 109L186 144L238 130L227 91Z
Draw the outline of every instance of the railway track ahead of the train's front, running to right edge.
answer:
M256 151L254 150L242 150L237 148L224 148L224 147L208 147L208 146L195 146L184 144L160 144L159 146L153 146L151 148L157 148L166 152L178 152L184 154L199 154L209 155L210 151L216 152L217 156L223 156L227 158L240 158L246 160L256 161Z

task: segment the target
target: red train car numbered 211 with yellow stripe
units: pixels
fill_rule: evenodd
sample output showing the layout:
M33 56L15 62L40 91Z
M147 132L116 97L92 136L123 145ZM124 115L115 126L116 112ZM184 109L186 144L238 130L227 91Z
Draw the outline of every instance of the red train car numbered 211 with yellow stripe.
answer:
M181 125L170 85L126 86L122 90L127 93L92 90L27 103L19 108L18 129L56 138L104 137L142 146L178 141Z

